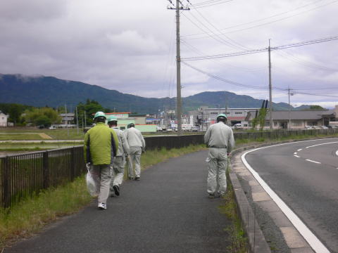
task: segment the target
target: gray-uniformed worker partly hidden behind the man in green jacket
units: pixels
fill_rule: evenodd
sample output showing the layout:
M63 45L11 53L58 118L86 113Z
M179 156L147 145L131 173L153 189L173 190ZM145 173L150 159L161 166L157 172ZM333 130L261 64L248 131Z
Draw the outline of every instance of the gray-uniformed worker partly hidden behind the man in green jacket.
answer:
M125 156L129 153L129 145L123 131L118 129L118 119L114 116L108 118L108 126L118 136L118 151L111 167L111 197L120 195L120 186L125 172Z

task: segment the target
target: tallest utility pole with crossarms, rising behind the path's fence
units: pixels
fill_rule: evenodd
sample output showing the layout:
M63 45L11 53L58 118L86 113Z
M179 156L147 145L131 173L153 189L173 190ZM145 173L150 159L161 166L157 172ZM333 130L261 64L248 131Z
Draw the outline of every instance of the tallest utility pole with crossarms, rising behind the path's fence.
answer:
M174 5L171 0L170 4ZM180 5L181 4L181 5ZM170 10L176 11L176 115L177 115L177 135L182 135L182 98L181 98L181 56L180 56L180 11L189 11L188 7L182 6L180 0L176 0L176 6L167 7Z

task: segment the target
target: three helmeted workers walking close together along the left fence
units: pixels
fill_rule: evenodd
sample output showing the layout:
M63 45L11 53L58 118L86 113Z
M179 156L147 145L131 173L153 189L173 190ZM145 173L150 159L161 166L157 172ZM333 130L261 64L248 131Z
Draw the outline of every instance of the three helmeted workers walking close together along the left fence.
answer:
M122 131L118 129L118 119L107 119L104 112L96 112L94 123L84 135L84 162L89 163L89 172L99 186L98 208L107 209L109 195L120 195L127 160L129 179L140 180L140 160L146 144L133 123Z

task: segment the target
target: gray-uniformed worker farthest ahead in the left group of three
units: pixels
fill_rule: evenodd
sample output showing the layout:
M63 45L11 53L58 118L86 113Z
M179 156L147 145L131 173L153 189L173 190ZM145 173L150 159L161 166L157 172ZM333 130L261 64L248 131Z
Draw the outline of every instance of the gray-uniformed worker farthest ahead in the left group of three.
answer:
M141 177L141 154L146 148L146 143L141 134L141 131L135 129L134 123L130 123L125 130L125 137L129 144L129 166L130 175L129 178L133 178L133 167L135 168L135 180L139 181ZM134 164L134 166L133 166Z

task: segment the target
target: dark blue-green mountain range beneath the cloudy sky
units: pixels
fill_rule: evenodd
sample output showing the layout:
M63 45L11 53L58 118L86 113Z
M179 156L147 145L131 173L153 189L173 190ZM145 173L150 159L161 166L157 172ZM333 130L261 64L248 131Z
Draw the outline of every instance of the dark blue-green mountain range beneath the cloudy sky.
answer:
M101 86L68 81L56 77L0 74L1 103L20 103L36 107L58 108L65 104L70 109L88 98L104 108L117 112L156 113L158 110L175 110L175 98L144 98ZM237 95L227 91L206 91L182 98L183 112L201 106L209 108L261 108L262 99ZM287 103L273 103L275 110L288 110ZM292 108L294 110L294 108Z

